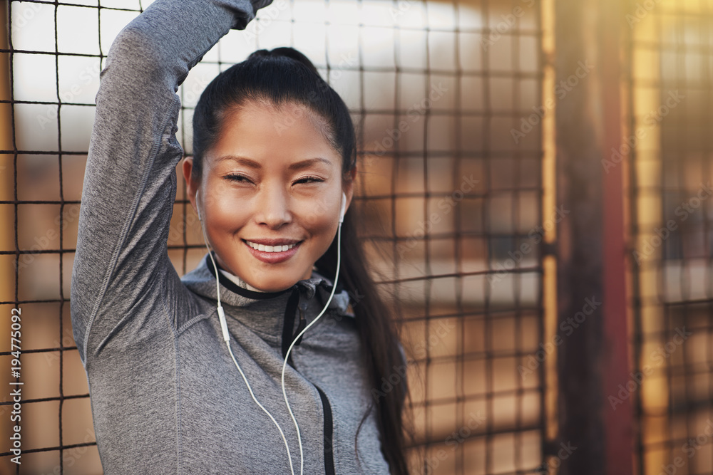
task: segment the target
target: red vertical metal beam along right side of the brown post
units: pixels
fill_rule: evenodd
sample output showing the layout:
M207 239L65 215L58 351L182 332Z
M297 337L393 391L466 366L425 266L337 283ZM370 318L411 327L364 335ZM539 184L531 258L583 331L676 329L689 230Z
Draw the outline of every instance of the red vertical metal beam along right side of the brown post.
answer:
M604 430L606 473L609 475L632 475L632 398L618 397L620 385L627 387L630 375L628 351L629 327L627 325L626 256L624 177L626 160L616 164L614 151L625 152L629 143L622 134L622 85L621 63L622 31L624 31L627 2L607 0L600 17L600 78L602 81L602 164L607 163L602 175L602 390L604 392ZM628 142L634 145L633 140ZM618 156L617 156L617 159ZM615 166L611 166L615 165ZM635 378L637 379L637 378ZM640 380L640 378L638 378ZM635 384L640 384L635 382ZM617 397L614 406L610 395ZM621 401L621 402L619 402Z

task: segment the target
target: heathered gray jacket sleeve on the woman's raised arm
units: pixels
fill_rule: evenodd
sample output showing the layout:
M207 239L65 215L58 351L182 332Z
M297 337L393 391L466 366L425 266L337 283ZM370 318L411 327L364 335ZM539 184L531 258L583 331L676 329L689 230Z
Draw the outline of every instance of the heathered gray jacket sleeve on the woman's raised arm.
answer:
M166 244L183 157L176 91L230 28L245 28L271 1L157 0L111 45L72 270L72 325L85 366L88 353L120 333L140 339L143 328L155 328L152 319L175 328L172 309L185 294Z

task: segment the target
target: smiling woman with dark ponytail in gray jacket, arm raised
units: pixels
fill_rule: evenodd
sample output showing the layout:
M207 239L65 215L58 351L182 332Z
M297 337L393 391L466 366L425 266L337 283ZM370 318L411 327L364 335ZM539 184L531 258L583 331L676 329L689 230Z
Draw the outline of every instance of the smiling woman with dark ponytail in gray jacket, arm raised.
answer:
M71 288L106 474L408 471L404 357L349 206L354 128L297 51L202 94L183 174L209 252L183 278L168 258L175 90L267 3L157 0L108 53Z

